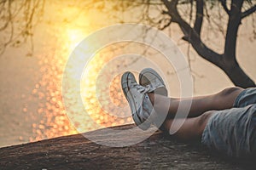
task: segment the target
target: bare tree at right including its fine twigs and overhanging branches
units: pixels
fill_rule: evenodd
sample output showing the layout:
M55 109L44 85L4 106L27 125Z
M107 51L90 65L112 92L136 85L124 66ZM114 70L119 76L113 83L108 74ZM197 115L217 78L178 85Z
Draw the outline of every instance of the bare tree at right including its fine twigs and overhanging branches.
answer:
M203 21L206 19L211 20L212 18L212 16L208 14L207 3L212 7L217 6L218 3L220 3L221 6L219 8L222 8L228 16L226 28L220 29L223 31L225 37L224 52L222 54L208 47L201 37ZM179 6L184 4L190 6L189 12L181 12L179 10ZM131 8L132 6L135 8L138 5L143 6L144 11L142 12L143 17L141 20L148 20L148 24L156 26L160 30L165 30L171 26L172 23L177 23L183 31L183 40L189 42L197 54L203 59L207 59L207 61L222 69L225 74L230 77L231 82L241 88L255 87L255 82L253 82L253 80L241 69L241 66L236 59L237 32L241 25L241 20L255 12L255 1L141 0L135 1L134 3L129 2L125 5L126 8ZM152 6L157 7L154 9L160 12L160 17L150 16L152 15L150 14L150 7ZM193 11L194 8L195 12Z

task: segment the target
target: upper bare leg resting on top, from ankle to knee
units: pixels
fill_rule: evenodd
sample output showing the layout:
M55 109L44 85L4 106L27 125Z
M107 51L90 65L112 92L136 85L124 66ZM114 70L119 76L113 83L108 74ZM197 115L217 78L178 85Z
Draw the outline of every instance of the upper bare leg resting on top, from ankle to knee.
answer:
M178 105L183 102L183 108L192 100L189 108L189 117L201 116L206 111L230 109L238 94L243 88L226 88L218 94L194 97L191 99L173 99L158 94L148 94L149 99L154 105L154 110L161 113L166 109L166 102L170 102L167 118L173 118L177 112ZM155 95L155 96L154 96ZM154 97L156 100L154 101ZM190 121L189 121L190 122Z

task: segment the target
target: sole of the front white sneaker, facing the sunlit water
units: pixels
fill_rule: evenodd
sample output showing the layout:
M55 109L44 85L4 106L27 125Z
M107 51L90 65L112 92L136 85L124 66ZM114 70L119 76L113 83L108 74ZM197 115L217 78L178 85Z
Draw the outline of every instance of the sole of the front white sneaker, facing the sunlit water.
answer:
M135 105L135 101L132 99L132 101L128 98L128 93L130 93L129 91L129 88L128 88L128 77L129 75L132 75L131 72L127 71L123 74L122 78L121 78L121 83L122 83L122 90L123 90L123 93L125 94L125 98L128 100L128 104L130 105L130 108L131 107L131 103L133 103L133 105ZM133 75L132 75L133 76ZM126 92L126 89L123 88L123 84L126 83L126 86L127 86L127 92ZM132 112L131 110L131 116L132 116L132 119L133 121L135 122L135 124L137 125L137 127L140 127L141 129L143 130L147 130L148 127L150 127L150 125L147 125L146 123L142 122L140 117L137 116L138 113L137 113L137 108L135 108L135 113Z

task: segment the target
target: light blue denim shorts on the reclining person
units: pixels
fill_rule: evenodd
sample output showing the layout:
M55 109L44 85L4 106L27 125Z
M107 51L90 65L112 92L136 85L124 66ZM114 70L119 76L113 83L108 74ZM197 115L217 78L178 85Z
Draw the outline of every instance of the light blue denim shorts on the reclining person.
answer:
M243 90L232 109L214 112L201 143L229 156L256 156L256 88Z

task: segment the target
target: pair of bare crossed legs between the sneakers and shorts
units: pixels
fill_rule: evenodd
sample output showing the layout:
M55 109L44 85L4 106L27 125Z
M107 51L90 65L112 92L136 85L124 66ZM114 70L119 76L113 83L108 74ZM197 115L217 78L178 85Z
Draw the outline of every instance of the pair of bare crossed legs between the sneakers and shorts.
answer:
M169 108L167 108L168 114L166 116L166 120L162 125L162 127L164 127L168 132L171 130L173 117L177 112L178 105L183 102L183 108L181 109L185 110L186 107L189 107L189 103L192 100L188 118L183 117L175 120L183 124L177 130L177 133L173 134L177 139L191 140L201 139L201 135L207 125L207 121L210 116L214 114L214 111L230 109L233 106L236 97L242 90L243 88L226 88L218 94L191 99L172 99L158 94L148 94L148 96L154 105L154 110L158 114L161 114L162 111L166 110L166 102L170 103ZM177 123L174 123L174 126L176 125Z

